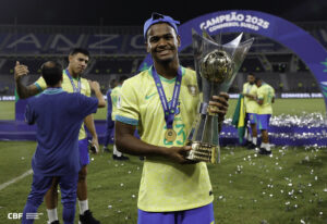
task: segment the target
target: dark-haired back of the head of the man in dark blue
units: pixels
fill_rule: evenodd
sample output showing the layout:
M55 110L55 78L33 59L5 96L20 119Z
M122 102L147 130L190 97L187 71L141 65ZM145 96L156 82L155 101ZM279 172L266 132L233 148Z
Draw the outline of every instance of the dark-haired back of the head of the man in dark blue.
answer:
M62 65L59 62L48 61L41 65L41 74L47 86L56 86L62 80Z

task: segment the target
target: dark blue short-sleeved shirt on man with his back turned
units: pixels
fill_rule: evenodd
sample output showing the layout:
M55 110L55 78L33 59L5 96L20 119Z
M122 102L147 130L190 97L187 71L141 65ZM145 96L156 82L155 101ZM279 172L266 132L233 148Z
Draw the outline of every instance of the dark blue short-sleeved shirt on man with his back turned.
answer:
M29 99L26 122L37 125L38 146L34 170L43 175L78 172L78 132L86 115L95 113L98 100L61 88L48 88ZM37 161L37 163L36 163Z

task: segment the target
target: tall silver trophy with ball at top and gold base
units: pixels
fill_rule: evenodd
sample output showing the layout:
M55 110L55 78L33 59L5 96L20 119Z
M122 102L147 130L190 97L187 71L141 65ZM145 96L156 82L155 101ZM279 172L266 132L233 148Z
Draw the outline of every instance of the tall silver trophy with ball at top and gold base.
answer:
M218 115L209 113L209 101L221 91L228 92L254 38L241 42L243 34L221 45L206 32L203 36L192 29L194 64L203 100L198 116L187 136L192 149L186 159L209 163L220 162Z

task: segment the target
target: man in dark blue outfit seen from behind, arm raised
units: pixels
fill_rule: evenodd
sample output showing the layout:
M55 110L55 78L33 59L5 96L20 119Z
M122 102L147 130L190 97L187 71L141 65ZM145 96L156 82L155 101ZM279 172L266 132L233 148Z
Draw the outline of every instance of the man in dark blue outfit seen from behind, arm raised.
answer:
M65 224L75 216L76 186L81 170L78 132L97 108L106 107L99 84L90 82L97 99L63 91L62 66L46 62L41 67L47 88L28 100L25 120L37 126L37 148L32 160L33 184L23 212L23 224L34 223L34 216L49 188L60 185ZM53 221L52 223L59 223Z

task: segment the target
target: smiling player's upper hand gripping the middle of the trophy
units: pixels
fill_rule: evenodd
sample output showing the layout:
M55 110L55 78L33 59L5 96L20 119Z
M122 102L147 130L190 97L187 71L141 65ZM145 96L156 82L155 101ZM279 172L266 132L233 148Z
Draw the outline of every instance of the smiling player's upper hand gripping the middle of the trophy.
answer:
M213 100L209 101L209 112L218 114L219 122L223 121L223 117L228 111L228 94L220 92L219 96L213 96Z

